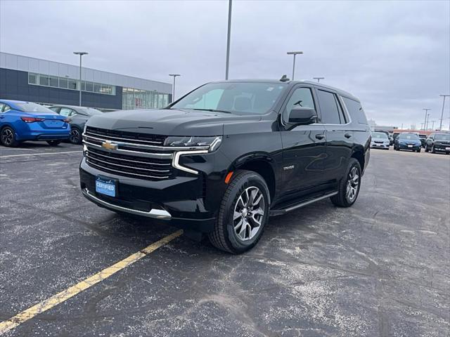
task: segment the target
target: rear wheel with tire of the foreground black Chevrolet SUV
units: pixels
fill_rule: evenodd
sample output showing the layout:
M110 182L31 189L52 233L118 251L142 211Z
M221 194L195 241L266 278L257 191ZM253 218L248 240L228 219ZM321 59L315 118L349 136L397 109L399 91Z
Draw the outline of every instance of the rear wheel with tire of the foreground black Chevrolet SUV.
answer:
M338 194L330 197L336 206L349 207L354 204L361 187L361 165L359 161L350 158L346 175L340 180Z

